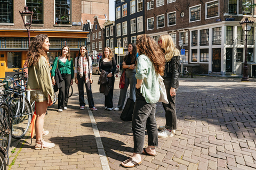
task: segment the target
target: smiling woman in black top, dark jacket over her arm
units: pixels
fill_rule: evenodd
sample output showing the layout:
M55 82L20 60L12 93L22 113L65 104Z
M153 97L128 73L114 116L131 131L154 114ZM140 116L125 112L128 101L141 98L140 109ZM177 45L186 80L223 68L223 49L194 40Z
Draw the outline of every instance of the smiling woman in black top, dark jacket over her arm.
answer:
M112 111L113 109L113 89L115 83L114 72L116 70L116 60L113 55L113 52L109 47L105 47L103 49L102 58L99 63L100 72L103 70L107 72L107 77L111 79L112 88L110 89L108 95L105 95L105 109L108 111Z

